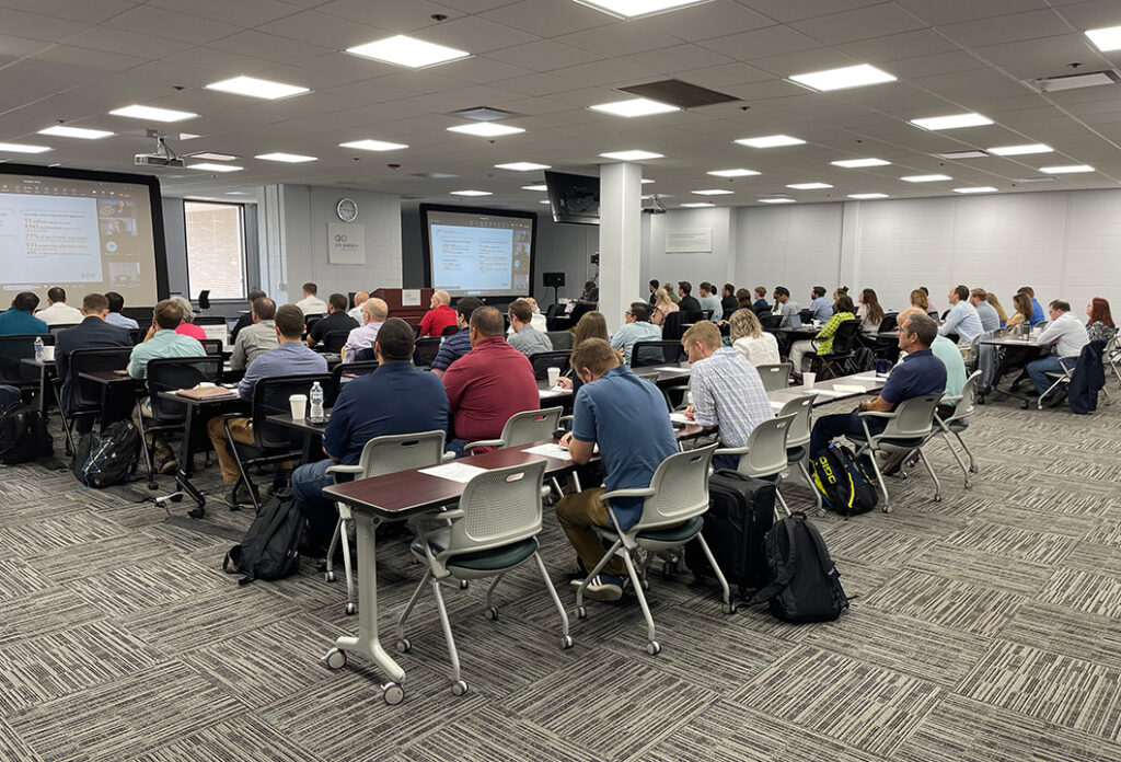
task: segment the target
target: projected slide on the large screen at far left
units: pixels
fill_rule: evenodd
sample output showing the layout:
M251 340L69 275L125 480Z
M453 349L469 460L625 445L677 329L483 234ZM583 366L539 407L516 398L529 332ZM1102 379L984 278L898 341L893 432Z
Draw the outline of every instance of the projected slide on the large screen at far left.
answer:
M129 307L158 301L148 178L123 183L20 169L27 171L0 166L0 308L19 291L35 291L45 307L54 286L65 288L76 307L91 291L118 291Z

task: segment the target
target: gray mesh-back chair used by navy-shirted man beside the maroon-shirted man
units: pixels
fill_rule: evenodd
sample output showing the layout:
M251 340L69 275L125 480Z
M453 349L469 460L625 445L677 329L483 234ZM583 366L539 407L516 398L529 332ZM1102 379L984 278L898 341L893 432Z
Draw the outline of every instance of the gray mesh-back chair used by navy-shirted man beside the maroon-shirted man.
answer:
M373 478L408 468L436 465L443 456L443 431L387 435L374 437L365 443L358 465L328 466L327 473L334 477L335 484L339 484L340 477L344 475L350 475L353 478ZM354 515L346 503L336 502L335 505L339 508L339 522L335 524L334 535L331 536L324 576L327 582L335 580L335 546L342 542L343 573L346 575L346 613L353 614L356 611L354 607L354 578L351 573L350 545L346 541L346 535L348 524L354 520Z

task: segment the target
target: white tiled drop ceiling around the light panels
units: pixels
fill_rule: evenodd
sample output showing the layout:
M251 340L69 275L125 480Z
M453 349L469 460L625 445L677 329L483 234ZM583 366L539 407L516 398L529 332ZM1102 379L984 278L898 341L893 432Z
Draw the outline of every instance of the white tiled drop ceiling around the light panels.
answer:
M430 17L447 16L444 21ZM725 205L789 192L798 201L852 193L952 195L1118 187L1121 85L1044 95L1023 80L1121 66L1082 34L1121 25L1118 0L714 0L639 20L619 20L572 0L0 0L0 141L54 148L0 155L11 161L131 171L151 149L146 127L202 137L172 146L242 157L244 171L213 177L163 170L165 192L222 195L267 183L339 184L453 202L451 190L494 195L487 205L540 208L521 190L540 173L493 169L534 161L594 171L604 151L640 148L647 189L673 207L702 201L691 190L726 187ZM396 34L472 53L411 71L355 57L348 47ZM815 93L785 76L874 64L898 82ZM1072 64L1081 64L1075 69ZM262 102L203 90L238 75L314 92ZM629 97L614 89L675 77L742 99L687 112L621 119L587 106ZM173 126L106 115L132 103L194 111ZM448 132L448 112L489 105L520 114L527 132L488 140ZM919 117L978 111L989 127L927 132ZM117 132L99 141L36 134L67 124ZM781 132L804 146L752 149L736 138ZM339 148L372 138L410 148L371 154ZM1009 158L943 161L937 152L1022 142L1056 149ZM274 151L318 161L253 159ZM888 167L840 169L830 161L878 157ZM393 169L388 164L399 164ZM1043 177L1038 167L1088 164L1093 174ZM747 167L758 177L721 179ZM441 171L454 179L415 174ZM941 173L953 180L902 183ZM823 182L826 190L788 190ZM234 197L231 197L237 198Z

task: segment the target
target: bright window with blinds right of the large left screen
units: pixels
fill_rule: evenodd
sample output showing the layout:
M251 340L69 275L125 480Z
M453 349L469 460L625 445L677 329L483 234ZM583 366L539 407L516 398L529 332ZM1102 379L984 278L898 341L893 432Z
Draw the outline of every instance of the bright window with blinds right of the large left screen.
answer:
M245 298L245 231L241 204L183 202L187 287L211 299Z

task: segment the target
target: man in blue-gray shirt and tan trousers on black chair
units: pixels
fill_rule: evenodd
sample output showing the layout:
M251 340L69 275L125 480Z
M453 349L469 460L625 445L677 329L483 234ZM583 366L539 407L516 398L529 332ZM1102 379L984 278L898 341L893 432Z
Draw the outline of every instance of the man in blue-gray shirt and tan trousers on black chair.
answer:
M327 361L318 352L313 352L304 345L304 313L296 305L284 305L276 313L272 331L277 337L277 346L262 352L245 370L245 375L238 382L238 394L241 399L249 401L253 399L253 388L260 379L268 379L277 375L299 375L302 373L326 373ZM258 323L257 325L261 325ZM210 435L214 452L217 454L217 464L222 470L222 481L226 484L238 484L241 480L241 472L238 471L238 462L230 452L230 443L225 436L225 422L223 418L211 418L206 422L206 434ZM253 444L253 419L231 418L230 434L235 442L243 445ZM281 468L282 468L281 464ZM231 495L230 502L237 504L238 489Z

